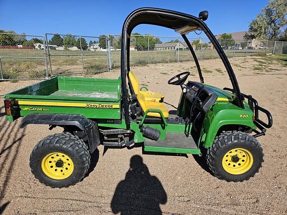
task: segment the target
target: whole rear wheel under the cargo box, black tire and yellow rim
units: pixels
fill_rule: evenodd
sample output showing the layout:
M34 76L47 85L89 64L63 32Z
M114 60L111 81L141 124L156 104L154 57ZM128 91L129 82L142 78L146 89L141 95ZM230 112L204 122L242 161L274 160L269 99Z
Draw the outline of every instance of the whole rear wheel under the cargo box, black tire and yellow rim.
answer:
M30 168L41 183L69 187L81 181L90 165L87 145L70 133L56 133L38 142L30 155Z

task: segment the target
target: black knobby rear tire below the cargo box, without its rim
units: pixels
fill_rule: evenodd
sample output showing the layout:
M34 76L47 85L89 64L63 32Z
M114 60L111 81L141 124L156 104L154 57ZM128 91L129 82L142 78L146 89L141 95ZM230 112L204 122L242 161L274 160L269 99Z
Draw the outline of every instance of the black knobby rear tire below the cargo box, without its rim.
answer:
M63 153L72 160L73 171L68 178L53 179L43 172L42 160L55 152ZM55 133L45 137L36 144L30 155L31 172L39 182L52 188L75 185L84 178L89 166L90 151L87 145L78 136L70 133Z

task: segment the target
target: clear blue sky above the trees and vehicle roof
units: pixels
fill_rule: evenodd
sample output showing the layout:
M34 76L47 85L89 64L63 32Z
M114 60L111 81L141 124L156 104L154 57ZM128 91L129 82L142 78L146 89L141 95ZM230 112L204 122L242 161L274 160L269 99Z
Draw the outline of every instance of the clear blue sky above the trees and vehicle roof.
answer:
M117 34L134 9L160 7L196 16L208 10L205 22L214 34L221 34L248 30L251 20L267 3L268 0L0 0L0 29L32 35ZM178 36L170 29L151 25L140 25L133 32Z

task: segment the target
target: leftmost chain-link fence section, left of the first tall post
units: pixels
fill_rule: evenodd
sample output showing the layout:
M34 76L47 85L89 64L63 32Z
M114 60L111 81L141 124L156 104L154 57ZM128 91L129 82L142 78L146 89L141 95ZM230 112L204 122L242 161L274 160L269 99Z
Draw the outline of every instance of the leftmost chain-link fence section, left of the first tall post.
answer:
M43 36L0 33L0 80L48 76Z

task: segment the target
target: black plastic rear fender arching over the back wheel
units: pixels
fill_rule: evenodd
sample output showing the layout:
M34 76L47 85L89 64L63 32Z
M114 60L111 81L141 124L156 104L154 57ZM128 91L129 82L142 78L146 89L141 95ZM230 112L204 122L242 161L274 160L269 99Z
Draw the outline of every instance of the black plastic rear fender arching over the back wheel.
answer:
M98 123L79 114L30 113L23 118L20 128L27 124L49 124L60 127L74 125L86 132L91 153L100 144Z

